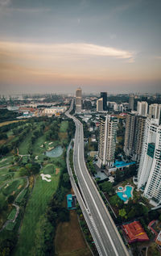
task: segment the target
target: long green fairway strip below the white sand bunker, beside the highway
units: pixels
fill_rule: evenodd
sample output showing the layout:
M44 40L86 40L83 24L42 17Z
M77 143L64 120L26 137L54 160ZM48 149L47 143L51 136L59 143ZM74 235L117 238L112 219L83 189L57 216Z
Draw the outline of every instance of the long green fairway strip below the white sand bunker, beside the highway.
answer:
M39 216L45 212L47 204L55 193L59 183L59 177L60 175L58 174L52 174L51 183L47 183L45 180L42 180L40 175L36 178L35 187L27 204L19 242L14 255L31 256L30 250L34 244L37 221L39 220Z

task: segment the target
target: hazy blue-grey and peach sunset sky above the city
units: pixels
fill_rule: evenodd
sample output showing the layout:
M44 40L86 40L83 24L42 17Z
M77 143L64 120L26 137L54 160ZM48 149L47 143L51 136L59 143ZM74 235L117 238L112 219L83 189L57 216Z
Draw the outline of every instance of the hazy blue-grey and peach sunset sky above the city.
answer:
M0 0L0 94L161 93L160 0Z

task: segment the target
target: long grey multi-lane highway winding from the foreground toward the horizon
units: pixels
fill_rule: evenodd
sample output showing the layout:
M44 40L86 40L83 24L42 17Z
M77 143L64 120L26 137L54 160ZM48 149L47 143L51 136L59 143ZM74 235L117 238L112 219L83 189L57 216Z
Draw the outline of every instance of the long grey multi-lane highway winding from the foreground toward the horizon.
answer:
M72 101L73 104L73 101ZM85 166L84 158L84 132L83 124L76 117L69 114L72 104L66 115L72 118L76 124L76 133L73 150L73 166L78 180L81 193L77 188L76 198L97 246L99 255L102 256L126 256L129 255L118 229L103 200L93 183L89 171ZM76 184L74 185L76 186ZM75 191L74 189L74 191Z

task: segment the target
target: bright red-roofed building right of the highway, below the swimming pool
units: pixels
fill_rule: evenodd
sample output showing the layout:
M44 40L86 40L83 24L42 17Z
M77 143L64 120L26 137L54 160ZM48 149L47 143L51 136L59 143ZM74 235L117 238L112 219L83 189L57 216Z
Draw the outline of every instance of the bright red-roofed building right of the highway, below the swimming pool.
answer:
M129 244L135 241L149 241L147 233L145 233L139 221L134 221L126 225L122 225Z

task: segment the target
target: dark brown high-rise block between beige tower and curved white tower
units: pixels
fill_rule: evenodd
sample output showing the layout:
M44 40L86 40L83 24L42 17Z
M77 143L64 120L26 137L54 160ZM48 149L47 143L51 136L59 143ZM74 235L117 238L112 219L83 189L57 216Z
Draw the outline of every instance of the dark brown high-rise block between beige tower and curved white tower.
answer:
M146 120L146 115L138 115L136 111L128 112L126 115L124 152L136 162L140 161L142 154Z

